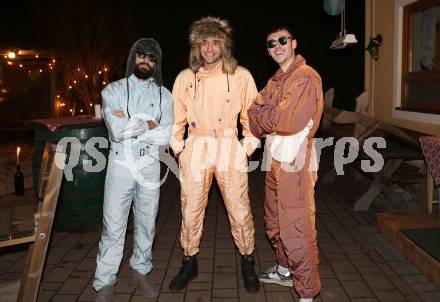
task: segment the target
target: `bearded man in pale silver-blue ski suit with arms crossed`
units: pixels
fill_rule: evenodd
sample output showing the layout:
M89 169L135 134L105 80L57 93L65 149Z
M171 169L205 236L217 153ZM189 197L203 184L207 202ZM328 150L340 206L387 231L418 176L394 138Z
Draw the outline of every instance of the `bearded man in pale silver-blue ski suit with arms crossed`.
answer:
M121 263L127 220L133 200L133 280L146 297L158 290L147 275L159 207L158 148L167 145L173 125L173 100L162 86L162 51L148 38L136 41L125 78L102 90L103 117L110 138L104 189L103 232L93 287L96 301L111 301Z

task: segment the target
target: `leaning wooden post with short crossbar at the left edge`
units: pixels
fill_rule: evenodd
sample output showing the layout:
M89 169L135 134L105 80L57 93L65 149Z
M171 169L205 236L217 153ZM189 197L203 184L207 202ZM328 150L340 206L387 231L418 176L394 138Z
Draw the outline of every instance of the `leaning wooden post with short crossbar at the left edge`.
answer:
M31 234L29 232L22 232L20 233L24 235L22 237L19 237L20 234L17 236L17 233L13 234L13 232L10 232L8 239L0 241L0 248L30 243L17 301L28 302L37 300L58 202L58 194L63 178L65 159L66 154L56 150L56 145L46 144L40 166L37 194L38 207L34 215L33 232L31 231ZM15 229L14 226L10 228L10 230Z

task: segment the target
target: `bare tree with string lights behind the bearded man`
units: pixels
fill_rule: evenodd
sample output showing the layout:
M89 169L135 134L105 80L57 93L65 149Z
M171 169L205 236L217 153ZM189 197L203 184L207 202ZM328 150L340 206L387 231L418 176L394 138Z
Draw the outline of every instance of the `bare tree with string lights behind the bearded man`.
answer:
M62 59L66 87L91 113L109 79L122 74L135 37L131 1L67 0L34 2L36 21ZM92 106L89 106L92 104Z

